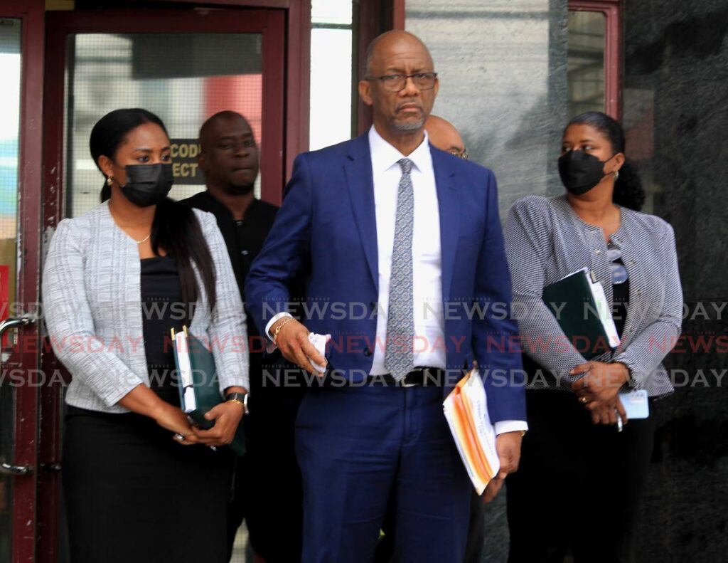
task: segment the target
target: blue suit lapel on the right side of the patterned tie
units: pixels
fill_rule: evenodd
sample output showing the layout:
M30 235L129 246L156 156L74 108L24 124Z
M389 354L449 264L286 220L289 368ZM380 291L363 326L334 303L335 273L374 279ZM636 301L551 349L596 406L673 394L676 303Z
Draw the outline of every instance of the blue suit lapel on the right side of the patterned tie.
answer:
M460 235L460 192L454 183L455 172L448 165L444 153L432 150L432 166L435 168L435 185L440 210L440 252L442 255L443 299L448 300L455 270L457 241Z

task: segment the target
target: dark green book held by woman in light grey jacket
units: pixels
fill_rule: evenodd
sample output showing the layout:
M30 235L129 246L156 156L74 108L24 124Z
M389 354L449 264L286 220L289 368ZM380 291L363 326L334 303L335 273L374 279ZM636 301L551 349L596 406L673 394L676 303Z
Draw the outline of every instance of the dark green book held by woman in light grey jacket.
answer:
M223 397L220 393L220 385L218 383L218 373L215 368L215 358L213 357L213 353L205 348L205 345L202 342L187 332L186 327L185 333L187 336L188 350L187 352L182 353L189 357L192 375L192 384L187 387L183 385L180 360L178 357L180 352L178 352L177 349L177 342L175 340L174 333L172 335L175 352L175 365L177 367L178 374L180 374L178 384L180 405L182 410L195 426L202 428L202 430L210 430L210 428L215 426L215 421L205 419L205 413L223 402ZM194 392L195 408L189 408L186 405L185 395L189 392L188 389L192 389L192 392ZM235 438L228 446L238 456L245 454L245 432L243 430L242 423L243 421L241 420L237 427L237 432L235 432Z

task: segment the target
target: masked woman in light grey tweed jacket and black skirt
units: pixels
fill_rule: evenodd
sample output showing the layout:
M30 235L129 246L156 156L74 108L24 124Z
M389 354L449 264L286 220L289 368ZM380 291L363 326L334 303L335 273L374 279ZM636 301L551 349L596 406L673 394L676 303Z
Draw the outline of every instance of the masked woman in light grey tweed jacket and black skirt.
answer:
M71 372L63 490L71 561L226 561L226 448L248 389L245 314L215 218L167 198L170 140L159 117L119 109L93 128L100 206L60 222L43 278L45 321ZM181 411L170 328L215 358L232 400Z

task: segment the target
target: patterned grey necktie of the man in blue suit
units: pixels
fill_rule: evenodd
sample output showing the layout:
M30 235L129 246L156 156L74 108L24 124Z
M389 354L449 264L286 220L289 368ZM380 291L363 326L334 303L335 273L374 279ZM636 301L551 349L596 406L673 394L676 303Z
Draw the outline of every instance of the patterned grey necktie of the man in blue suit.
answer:
M392 274L389 277L389 311L384 366L397 381L414 368L414 306L412 303L412 233L414 229L414 192L410 172L413 162L397 161L402 168L397 190L395 241L392 247Z

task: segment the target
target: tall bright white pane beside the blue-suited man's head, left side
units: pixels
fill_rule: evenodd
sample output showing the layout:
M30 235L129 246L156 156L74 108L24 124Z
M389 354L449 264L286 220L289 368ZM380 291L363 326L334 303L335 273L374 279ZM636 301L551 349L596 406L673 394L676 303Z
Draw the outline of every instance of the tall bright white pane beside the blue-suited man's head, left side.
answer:
M309 148L317 150L352 136L352 31L311 30Z

